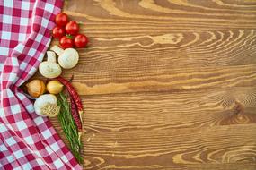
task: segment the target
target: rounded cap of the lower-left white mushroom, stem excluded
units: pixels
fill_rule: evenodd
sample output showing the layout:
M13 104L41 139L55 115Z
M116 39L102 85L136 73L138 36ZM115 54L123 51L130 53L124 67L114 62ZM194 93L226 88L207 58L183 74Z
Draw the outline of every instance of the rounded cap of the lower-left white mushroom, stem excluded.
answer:
M61 68L57 63L45 61L40 63L40 73L46 78L53 79L61 74Z

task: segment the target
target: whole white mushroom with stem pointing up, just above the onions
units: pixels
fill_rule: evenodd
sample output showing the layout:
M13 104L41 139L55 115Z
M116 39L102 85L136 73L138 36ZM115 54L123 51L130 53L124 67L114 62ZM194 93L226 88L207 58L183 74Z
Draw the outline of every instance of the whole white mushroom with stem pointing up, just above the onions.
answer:
M40 73L46 78L56 78L61 74L61 68L56 63L56 54L47 51L47 56L47 61L40 63Z

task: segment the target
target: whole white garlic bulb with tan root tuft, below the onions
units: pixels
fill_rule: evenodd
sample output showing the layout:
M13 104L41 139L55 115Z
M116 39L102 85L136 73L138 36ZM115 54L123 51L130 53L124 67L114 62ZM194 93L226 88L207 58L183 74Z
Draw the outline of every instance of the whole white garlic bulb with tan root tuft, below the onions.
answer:
M37 115L53 117L58 115L60 106L55 95L45 94L36 99L34 109Z

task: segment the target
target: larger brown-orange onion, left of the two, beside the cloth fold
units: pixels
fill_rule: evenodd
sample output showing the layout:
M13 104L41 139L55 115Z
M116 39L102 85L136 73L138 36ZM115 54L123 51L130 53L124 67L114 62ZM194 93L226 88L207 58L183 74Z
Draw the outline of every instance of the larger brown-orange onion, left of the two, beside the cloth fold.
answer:
M45 93L45 83L39 79L32 80L26 84L27 91L33 98L38 98Z

